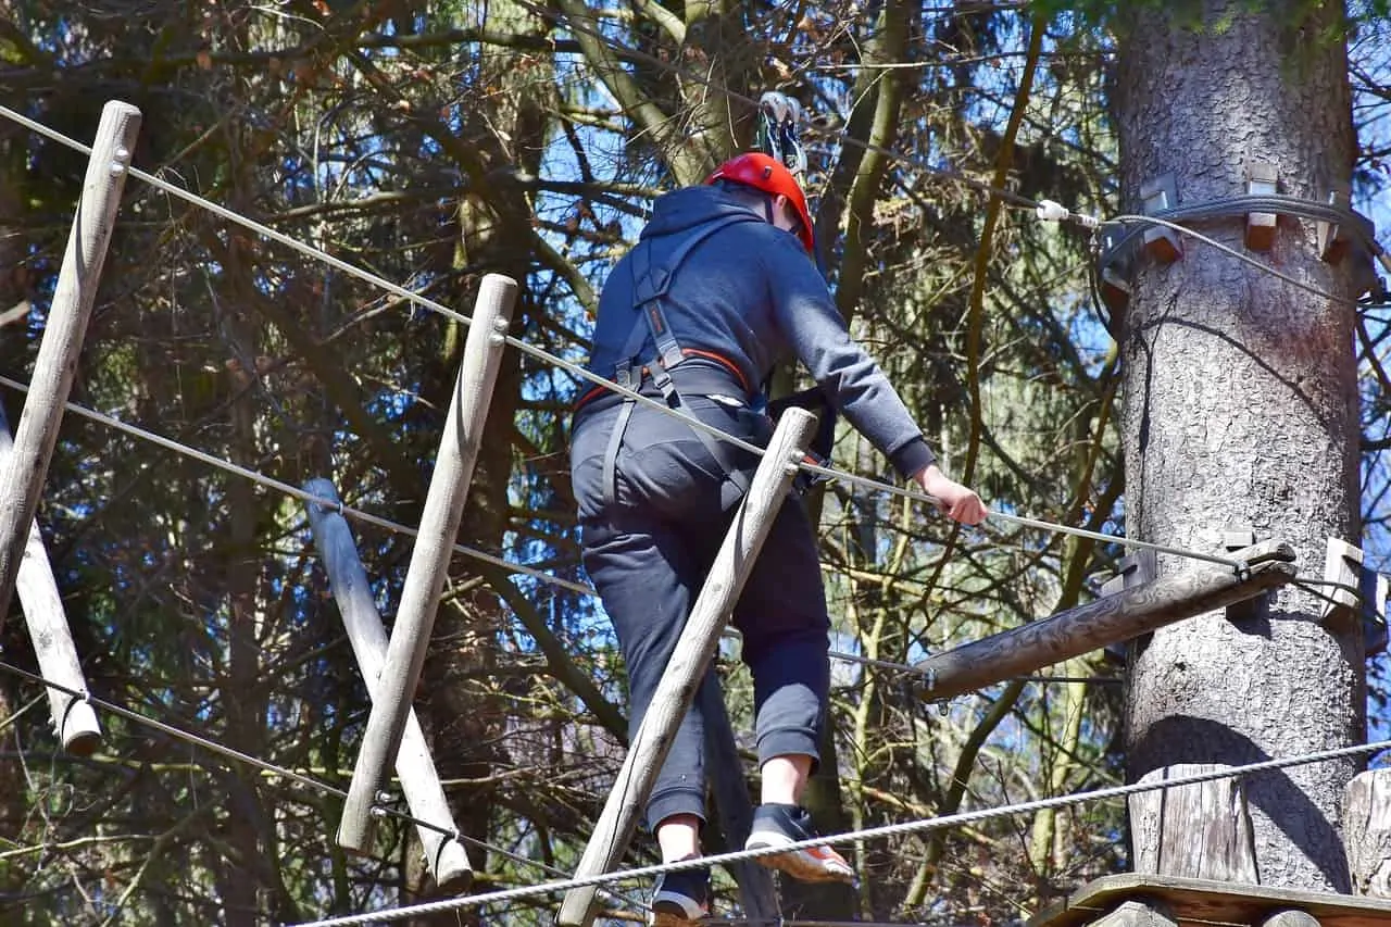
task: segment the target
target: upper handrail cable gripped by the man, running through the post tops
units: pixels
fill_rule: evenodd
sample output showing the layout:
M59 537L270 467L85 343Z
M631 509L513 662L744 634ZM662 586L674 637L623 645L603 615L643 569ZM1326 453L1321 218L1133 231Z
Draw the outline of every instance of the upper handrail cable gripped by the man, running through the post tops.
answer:
M25 128L29 128L29 129L32 129L35 132L39 132L39 134L42 134L46 138L50 138L53 141L61 142L64 145L68 145L68 146L74 148L75 150L83 152L86 154L90 154L90 152L92 152L92 149L89 146L82 145L77 139L72 139L72 138L70 138L70 136L67 136L67 135L64 135L64 134L61 134L61 132L58 132L56 129L50 129L50 128L45 127L43 124L36 122L35 120L31 120L31 118L19 114L19 113L15 113L14 110L11 110L11 109L8 109L6 106L0 106L0 116L6 116L6 117L8 117L8 118L11 118L11 120L14 120L17 122L19 122ZM259 223L259 221L256 221L253 219L242 216L242 214L239 214L239 213L236 213L236 212L234 212L231 209L227 209L225 206L221 206L221 205L214 203L214 202L211 202L211 200L209 200L209 199L206 199L203 196L192 193L192 192L189 192L189 191L186 191L186 189L184 189L181 187L177 187L175 184L170 184L170 182L159 178L159 177L154 177L153 174L147 174L147 173L140 171L140 170L134 168L134 167L131 167L129 170L131 170L131 174L134 177L139 178L139 180L143 180L143 181L152 184L153 187L156 187L159 189L163 189L163 191L167 191L167 192L170 192L170 193L172 193L175 196L179 196L181 199L185 199L186 202L193 203L195 206L200 206L203 209L207 209L209 212L213 212L214 214L217 214L217 216L220 216L220 217L223 217L223 219L225 219L228 221L236 223L236 224L248 228L249 231L253 231L253 232L256 232L259 235L264 235L264 237L267 237L267 238L270 238L273 241L284 244L285 246L292 248L294 251L296 251L296 252L299 252L302 255L306 255L309 258L314 258L314 259L323 260L323 262L328 263L330 266L342 270L344 273L348 273L348 274L351 274L353 277L357 277L359 280L363 280L363 281L370 283L373 285L381 287L381 288L387 290L388 292L392 292L396 296L401 296L402 299L408 299L410 302L415 302L415 303L417 303L420 306L424 306L427 309L438 312L438 313L441 313L441 315L444 315L444 316L447 316L449 319L455 319L455 320L462 322L465 324L470 323L470 320L469 320L467 316L465 316L465 315L462 315L462 313L459 313L459 312L456 312L453 309L449 309L448 306L444 306L444 305L435 302L434 299L428 299L427 296L423 296L423 295L412 292L412 291L409 291L409 290L406 290L406 288L403 288L403 287L401 287L398 284L394 284L389 280L385 280L384 277L380 277L378 274L370 273L367 270L362 270L360 267L356 267L356 266L353 266L353 264L351 264L351 263L348 263L348 262L345 262L345 260L342 260L339 258L334 258L332 255L328 255L327 252L324 252L324 251L321 251L319 248L314 248L313 245L306 245L303 242L299 242L295 238L291 238L289 235L285 235L284 232L275 231L274 228L270 228L268 225L266 225L263 223ZM1028 202L1032 202L1032 200L1028 200ZM1143 221L1152 221L1148 217L1135 217L1135 219L1139 219L1139 220L1143 220ZM1178 227L1178 228L1182 228L1182 227ZM1185 230L1185 231L1188 231L1188 230ZM1196 232L1189 232L1189 234L1196 234ZM1219 246L1221 246L1221 245L1219 244ZM516 338L513 335L508 335L506 337L506 344L517 348L523 354L527 354L527 355L530 355L533 358L537 358L540 360L544 360L544 362L547 362L547 363L549 363L552 366L556 366L556 367L559 367L562 370L566 370L568 373L570 373L573 376L577 376L577 377L580 377L583 380L587 380L587 381L590 381L590 383L593 383L595 386L602 386L602 387L605 387L605 388L608 388L608 390L611 390L613 393L618 393L618 394L620 394L620 395L623 395L623 397L626 397L629 399L633 399L633 401L638 402L640 405L644 405L644 406L651 408L651 409L657 409L662 415L669 415L672 418L676 418L676 419L684 422L687 426L690 426L693 429L697 429L700 431L711 434L712 437L715 437L715 438L718 438L721 441L725 441L727 444L733 444L734 447L740 448L741 451L746 451L748 454L754 454L757 457L762 457L762 454L764 454L764 450L759 448L755 444L750 444L748 441L744 441L744 440L737 438L737 437L734 437L734 436L732 436L732 434L729 434L726 431L722 431L721 429L718 429L715 426L707 425L705 422L701 422L700 419L697 419L693 415L687 415L687 413L684 413L684 412L682 412L679 409L673 409L669 405L666 405L665 402L661 402L658 399L641 395L636 390L629 390L627 387L622 387L618 383L613 383L612 380L609 380L609 379L606 379L604 376L593 373L591 370L584 369L581 365L577 365L577 363L574 363L572 360L566 360L565 358L554 355L554 354L545 351L544 348L538 348L536 345L527 344L527 342L524 342L524 341L522 341L522 340L519 340L519 338ZM111 422L115 422L115 420L111 419ZM234 465L227 465L227 466L234 466ZM906 498L917 500L919 502L926 502L926 504L933 505L933 507L940 507L940 502L938 500L935 500L931 496L928 496L925 493L921 493L921 491L914 491L914 490L897 487L897 486L893 486L890 483L885 483L885 482L881 482L881 480L872 480L872 479L862 477L862 476L858 476L858 475L854 475L854 473L849 473L849 472L844 472L844 470L836 470L836 469L830 469L830 468L822 468L822 466L817 466L817 465L811 465L811 464L801 464L801 468L805 469L805 470L808 470L808 472L811 472L811 473L818 473L818 475L822 475L822 476L829 476L832 479L842 480L842 482L851 483L851 484L857 484L857 486L861 486L864 489L871 489L871 490L876 490L876 491L890 493L890 494L901 496L901 497L906 497ZM294 490L294 491L295 493L300 493L299 490ZM303 498L303 496L300 496L300 498ZM363 521L370 521L371 518L374 518L374 516L366 516L366 514L360 514L359 516L363 516ZM1045 521L1040 521L1040 519L1022 518L1022 516L1018 516L1018 515L1010 515L1010 514L999 512L999 511L993 511L993 509L990 511L990 519L996 521L996 522L1004 522L1004 523L1008 523L1008 525L1017 525L1017 526L1021 526L1021 528L1040 529L1040 530L1046 530L1046 532L1052 532L1052 533L1057 533L1057 534L1071 534L1074 537L1086 537L1086 539L1097 540L1097 541L1102 541L1102 543L1121 544L1124 547L1129 547L1129 548L1135 548L1135 550L1153 550L1156 553L1170 554L1170 555L1175 555L1175 557L1185 557L1185 558L1189 558L1189 560L1203 560L1203 561L1209 561L1209 562L1214 562L1214 564L1221 564L1221 565L1228 566L1228 568L1231 568L1234 571L1238 571L1238 572L1242 569L1242 564L1239 561L1237 561L1237 560L1230 558L1230 557L1217 557L1217 555L1213 555L1213 554L1205 554L1205 553L1199 553L1199 551L1182 550L1180 547L1171 547L1171 546L1167 546L1167 544L1153 544L1150 541L1142 541L1142 540L1135 540L1135 539L1128 539L1128 537L1117 537L1117 536L1113 536L1113 534L1102 534L1099 532L1089 532L1086 529L1072 528L1070 525L1056 525L1056 523L1045 522ZM387 526L387 525L383 525L383 523L376 522L376 521L373 521L371 523L378 523L383 528ZM410 529L406 529L406 530L410 530ZM472 551L472 548L466 548L463 546L456 546L456 550L459 550L460 553L466 553L467 555L474 555L474 557L480 557L480 558L484 558L484 560L488 558L488 557L491 557L488 554L483 554L481 551ZM490 561L490 562L494 562L494 561ZM516 569L517 572L527 572L527 568L517 568L516 565L508 564L506 561L497 560L495 564L499 565L499 566L505 566L508 569ZM527 575L533 575L533 573L527 573ZM561 580L561 582L566 582L566 580Z

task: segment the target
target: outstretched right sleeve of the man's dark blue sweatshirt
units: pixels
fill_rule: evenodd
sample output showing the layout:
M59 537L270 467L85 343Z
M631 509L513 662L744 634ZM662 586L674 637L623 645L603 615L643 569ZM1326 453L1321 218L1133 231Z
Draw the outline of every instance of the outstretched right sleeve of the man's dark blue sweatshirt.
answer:
M879 448L903 476L936 457L889 379L846 328L826 283L785 235L769 249L773 319L797 359L830 402Z

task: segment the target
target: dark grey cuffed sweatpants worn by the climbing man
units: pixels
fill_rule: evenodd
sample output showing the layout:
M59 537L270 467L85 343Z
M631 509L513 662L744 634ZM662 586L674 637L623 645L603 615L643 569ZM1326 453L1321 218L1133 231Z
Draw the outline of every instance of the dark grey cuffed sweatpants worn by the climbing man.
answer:
M636 734L739 505L690 426L637 406L618 457L613 504L604 498L604 450L620 404L577 416L570 465L580 508L584 568L613 622L627 664ZM683 409L766 445L771 422L744 408L687 397ZM727 445L751 476L757 459ZM758 761L818 754L830 670L826 599L811 525L797 498L783 502L734 608L743 658L754 676ZM672 814L705 817L700 704L682 722L647 805L655 828Z

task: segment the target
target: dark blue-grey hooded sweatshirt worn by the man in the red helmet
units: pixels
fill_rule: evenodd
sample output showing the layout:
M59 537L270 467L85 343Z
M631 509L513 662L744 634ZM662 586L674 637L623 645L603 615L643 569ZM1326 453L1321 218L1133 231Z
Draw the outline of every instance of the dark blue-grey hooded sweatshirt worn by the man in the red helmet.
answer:
M797 238L761 210L716 187L687 187L657 200L643 230L661 264L693 228L721 216L748 214L698 244L672 278L662 309L684 349L721 355L755 391L773 366L796 356L855 429L904 476L933 462L922 430L864 349L850 338L826 283ZM588 369L612 377L634 324L633 256L609 274L600 298ZM637 359L657 354L651 335ZM697 356L686 363L702 363ZM684 365L683 365L684 366ZM718 366L718 365L716 365ZM723 369L723 367L721 367ZM730 391L743 384L730 377Z

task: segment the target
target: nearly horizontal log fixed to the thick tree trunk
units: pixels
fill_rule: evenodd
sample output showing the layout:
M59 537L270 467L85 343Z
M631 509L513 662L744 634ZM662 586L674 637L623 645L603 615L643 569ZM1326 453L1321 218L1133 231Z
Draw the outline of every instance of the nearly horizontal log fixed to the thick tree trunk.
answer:
M915 664L928 702L1034 672L1054 663L1129 640L1164 625L1253 599L1295 576L1294 548L1262 541L1232 553L1244 575L1199 562L1184 572L1125 589L1077 608L975 640Z

